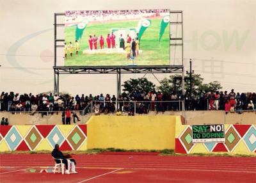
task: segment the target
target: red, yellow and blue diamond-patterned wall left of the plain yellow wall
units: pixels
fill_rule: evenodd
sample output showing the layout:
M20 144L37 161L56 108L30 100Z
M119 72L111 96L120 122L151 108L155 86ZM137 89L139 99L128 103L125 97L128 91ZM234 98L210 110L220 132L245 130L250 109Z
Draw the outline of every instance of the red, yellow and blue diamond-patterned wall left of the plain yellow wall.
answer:
M0 152L13 150L86 150L86 125L0 126Z

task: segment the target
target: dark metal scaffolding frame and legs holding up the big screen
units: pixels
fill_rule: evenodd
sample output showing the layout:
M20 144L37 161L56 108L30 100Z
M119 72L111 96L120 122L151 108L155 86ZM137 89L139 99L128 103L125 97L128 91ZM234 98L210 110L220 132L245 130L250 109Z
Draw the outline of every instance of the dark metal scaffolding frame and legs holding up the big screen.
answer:
M122 74L144 74L144 73L174 73L182 74L182 93L184 93L184 58L183 58L183 17L182 11L170 11L170 17L177 15L180 20L170 20L170 25L181 26L181 33L177 36L170 35L170 47L181 47L180 64L179 65L163 65L163 66L57 66L58 47L64 47L63 38L58 38L58 27L65 24L58 23L58 17L65 16L65 13L54 13L54 92L60 92L60 74L116 74L116 93L121 94L121 75ZM61 43L61 44L59 44Z

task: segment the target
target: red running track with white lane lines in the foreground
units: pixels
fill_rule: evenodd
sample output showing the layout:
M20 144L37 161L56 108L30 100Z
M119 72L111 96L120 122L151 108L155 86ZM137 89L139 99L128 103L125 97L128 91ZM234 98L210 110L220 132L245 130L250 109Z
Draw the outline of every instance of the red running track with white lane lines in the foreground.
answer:
M1 154L0 182L256 182L256 157L73 155L72 175L40 173L49 154Z

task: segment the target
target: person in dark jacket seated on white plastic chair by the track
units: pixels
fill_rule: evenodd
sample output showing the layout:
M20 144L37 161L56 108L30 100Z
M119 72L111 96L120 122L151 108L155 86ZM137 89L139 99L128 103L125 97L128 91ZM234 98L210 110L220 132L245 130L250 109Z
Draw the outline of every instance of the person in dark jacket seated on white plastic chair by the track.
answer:
M63 153L60 151L60 146L58 144L56 144L54 150L52 150L52 157L56 159L55 160L56 163L60 163L60 160L58 159L62 159L62 162L65 164L65 167L66 167L65 174L77 173L76 161L74 159L70 159L71 155L63 155ZM71 164L71 172L70 172L70 164Z

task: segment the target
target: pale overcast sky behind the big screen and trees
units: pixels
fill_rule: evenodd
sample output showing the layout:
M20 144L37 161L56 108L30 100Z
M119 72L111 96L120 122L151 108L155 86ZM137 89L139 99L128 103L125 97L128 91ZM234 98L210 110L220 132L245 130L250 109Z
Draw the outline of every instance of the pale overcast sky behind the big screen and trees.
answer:
M192 58L193 70L204 77L205 83L220 81L223 90L256 92L255 7L255 0L0 0L0 90L53 90L54 12L170 8L184 12L186 68ZM63 64L61 53L59 65ZM142 76L123 74L122 81ZM160 80L168 74L156 76ZM158 84L152 74L146 77ZM116 94L116 75L61 76L63 91L73 95Z

